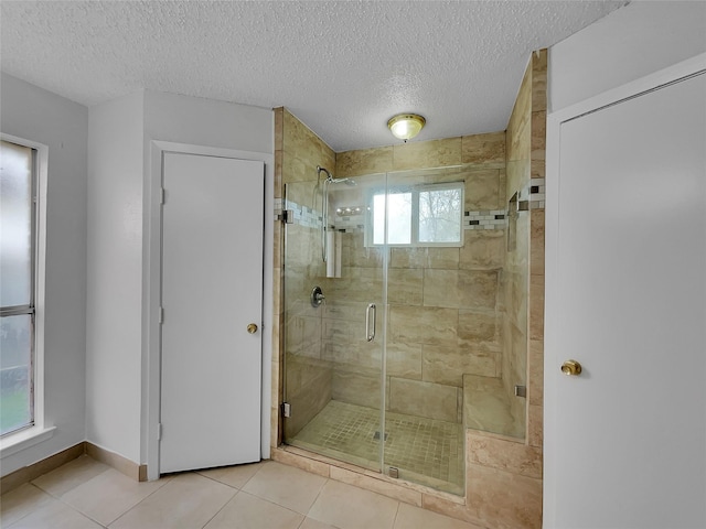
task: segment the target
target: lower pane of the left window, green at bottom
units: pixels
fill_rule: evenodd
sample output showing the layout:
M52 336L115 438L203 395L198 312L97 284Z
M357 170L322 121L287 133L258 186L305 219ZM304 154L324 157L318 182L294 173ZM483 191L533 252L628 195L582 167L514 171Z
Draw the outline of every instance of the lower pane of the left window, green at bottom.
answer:
M32 421L32 316L3 316L0 319L0 434Z

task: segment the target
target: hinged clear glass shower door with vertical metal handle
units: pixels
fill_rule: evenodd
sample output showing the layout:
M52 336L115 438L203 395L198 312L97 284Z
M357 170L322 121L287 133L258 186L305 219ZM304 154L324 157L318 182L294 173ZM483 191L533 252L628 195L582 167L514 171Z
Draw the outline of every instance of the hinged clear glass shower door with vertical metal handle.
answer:
M313 172L308 182L286 184L287 208L300 213L286 225L284 256L285 400L290 404L285 442L379 471L386 258L384 247L365 245L365 235L374 217L366 201L374 188L384 188L385 175L327 184L324 176L317 180ZM384 222L381 197L376 213ZM320 304L312 303L315 287L324 296ZM376 311L368 311L370 304ZM376 316L371 342L366 312L371 330Z

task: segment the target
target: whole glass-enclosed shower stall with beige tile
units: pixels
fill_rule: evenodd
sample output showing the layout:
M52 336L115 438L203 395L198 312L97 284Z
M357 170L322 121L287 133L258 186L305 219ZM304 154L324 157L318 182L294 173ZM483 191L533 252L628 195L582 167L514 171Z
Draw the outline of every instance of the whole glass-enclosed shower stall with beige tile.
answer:
M285 184L284 442L462 495L466 429L525 432L504 171L315 176Z

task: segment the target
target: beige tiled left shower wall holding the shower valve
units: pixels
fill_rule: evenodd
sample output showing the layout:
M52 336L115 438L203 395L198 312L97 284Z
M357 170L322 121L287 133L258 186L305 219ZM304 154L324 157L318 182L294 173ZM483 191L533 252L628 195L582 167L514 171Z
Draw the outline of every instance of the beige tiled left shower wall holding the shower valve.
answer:
M335 153L329 145L287 109L275 109L275 198L284 198L285 184L292 184L288 199L308 205L317 181L317 165L333 169L334 163ZM278 354L274 355L271 366L272 446L282 441L284 424L279 406L285 397L285 382L293 410L292 419L287 424L287 434L293 435L331 399L333 376L323 354L321 313L308 301L311 289L321 281L324 270L318 259L321 251L320 234L304 226L293 226L288 231L285 271L284 230L281 223L275 223L272 266L275 278L279 278L279 281L275 281L274 289L272 341L274 350ZM287 289L287 295L284 288ZM285 360L287 373L284 369Z

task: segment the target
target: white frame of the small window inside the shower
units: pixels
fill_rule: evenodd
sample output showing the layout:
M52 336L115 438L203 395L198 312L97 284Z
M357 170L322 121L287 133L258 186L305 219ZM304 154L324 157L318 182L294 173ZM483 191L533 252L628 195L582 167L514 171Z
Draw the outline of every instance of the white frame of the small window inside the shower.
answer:
M459 240L451 242L427 242L419 240L419 195L427 191L443 191L443 190L458 190L461 194L461 207L459 210ZM365 246L366 247L382 247L389 246L393 248L460 248L463 246L463 209L466 204L466 183L464 182L440 182L431 184L413 184L413 185L394 185L391 187L373 187L370 190L367 196L367 218L365 226ZM374 234L374 215L375 215L375 196L378 195L393 195L402 193L411 193L411 234L409 244L376 244ZM386 219L388 223L389 219ZM387 226L386 226L387 229Z

